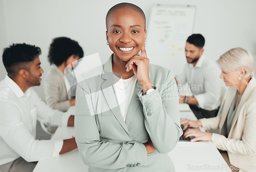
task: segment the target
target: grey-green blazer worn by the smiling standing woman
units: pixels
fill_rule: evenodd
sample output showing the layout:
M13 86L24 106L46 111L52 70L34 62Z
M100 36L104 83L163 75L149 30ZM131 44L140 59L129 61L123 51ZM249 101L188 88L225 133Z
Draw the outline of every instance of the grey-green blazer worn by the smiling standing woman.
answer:
M141 96L137 81L126 120L113 88L112 58L100 75L77 86L75 136L79 154L89 171L175 171L168 157L182 135L174 74L150 65L155 91ZM142 143L151 139L154 153Z

